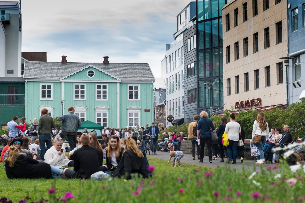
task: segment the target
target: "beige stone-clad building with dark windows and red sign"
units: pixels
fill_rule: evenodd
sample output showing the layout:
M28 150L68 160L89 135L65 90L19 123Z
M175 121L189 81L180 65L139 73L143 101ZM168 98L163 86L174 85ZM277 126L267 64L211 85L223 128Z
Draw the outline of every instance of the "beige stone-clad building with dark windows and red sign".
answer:
M225 108L286 104L286 1L233 0L222 18Z

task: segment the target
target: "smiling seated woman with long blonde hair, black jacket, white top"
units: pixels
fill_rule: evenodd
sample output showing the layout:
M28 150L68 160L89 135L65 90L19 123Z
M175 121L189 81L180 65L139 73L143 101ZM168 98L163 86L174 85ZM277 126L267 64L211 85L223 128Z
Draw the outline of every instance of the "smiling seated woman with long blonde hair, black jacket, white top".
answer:
M100 167L101 171L111 173L117 168L124 152L124 147L121 146L120 138L117 135L110 136L109 145L106 150L106 164Z

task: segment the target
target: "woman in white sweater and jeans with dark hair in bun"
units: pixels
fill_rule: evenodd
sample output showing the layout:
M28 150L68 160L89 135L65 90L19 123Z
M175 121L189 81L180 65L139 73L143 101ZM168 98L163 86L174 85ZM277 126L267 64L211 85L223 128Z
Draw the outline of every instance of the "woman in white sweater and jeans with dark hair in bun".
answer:
M227 146L229 158L227 160L227 163L231 163L233 160L232 164L236 164L237 144L239 141L239 133L241 132L241 129L239 123L235 121L234 113L230 115L230 122L226 124L224 132L228 133L229 138L229 145Z

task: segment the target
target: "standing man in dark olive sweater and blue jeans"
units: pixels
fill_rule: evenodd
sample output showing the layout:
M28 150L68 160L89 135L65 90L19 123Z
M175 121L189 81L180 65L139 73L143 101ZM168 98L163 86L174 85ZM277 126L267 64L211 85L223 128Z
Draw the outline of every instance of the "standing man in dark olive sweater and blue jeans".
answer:
M52 147L51 130L56 127L56 124L53 118L48 115L48 109L43 108L41 114L42 116L39 118L38 124L38 136L40 144L40 158L41 160L45 160L45 144L48 149Z

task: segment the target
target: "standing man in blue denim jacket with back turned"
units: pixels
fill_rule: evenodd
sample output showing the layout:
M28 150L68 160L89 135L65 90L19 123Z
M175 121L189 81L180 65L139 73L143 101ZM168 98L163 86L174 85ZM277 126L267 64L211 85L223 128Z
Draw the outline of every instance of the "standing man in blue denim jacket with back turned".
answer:
M70 149L72 151L76 146L77 129L81 127L81 120L76 114L74 114L74 107L69 107L68 111L69 113L59 116L57 119L63 121L61 130L63 135L67 135ZM86 128L85 131L87 131Z

